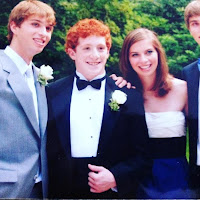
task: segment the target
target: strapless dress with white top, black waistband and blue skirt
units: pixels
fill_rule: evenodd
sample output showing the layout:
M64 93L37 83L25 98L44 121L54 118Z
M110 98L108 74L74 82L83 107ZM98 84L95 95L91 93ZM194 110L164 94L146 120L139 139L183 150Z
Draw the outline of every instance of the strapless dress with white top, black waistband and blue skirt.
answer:
M138 198L191 198L183 112L147 112L145 117L153 168L152 175L140 185Z

